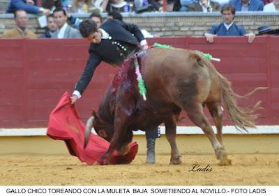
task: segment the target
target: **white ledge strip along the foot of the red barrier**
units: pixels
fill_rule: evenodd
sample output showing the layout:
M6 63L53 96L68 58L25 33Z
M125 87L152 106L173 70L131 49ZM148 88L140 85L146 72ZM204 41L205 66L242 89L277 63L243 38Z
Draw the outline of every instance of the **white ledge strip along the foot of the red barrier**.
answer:
M213 126L216 133L216 127ZM162 135L165 135L165 126L160 126ZM33 129L0 129L0 136L46 136L47 128ZM177 134L204 134L197 126L178 126ZM279 125L259 125L257 129L248 129L248 133L238 131L234 126L223 126L224 134L278 134ZM134 131L134 135L144 135L144 131Z

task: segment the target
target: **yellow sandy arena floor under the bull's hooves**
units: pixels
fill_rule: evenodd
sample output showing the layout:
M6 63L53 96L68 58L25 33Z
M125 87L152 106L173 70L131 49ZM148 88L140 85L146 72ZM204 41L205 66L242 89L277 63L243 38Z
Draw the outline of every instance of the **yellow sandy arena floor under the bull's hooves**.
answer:
M168 165L169 155L157 155L146 165L137 155L130 165L86 165L70 155L0 155L0 185L279 185L279 154L232 154L231 166L220 167L212 155L182 156L181 165ZM211 172L193 172L193 164ZM195 169L194 169L195 170Z

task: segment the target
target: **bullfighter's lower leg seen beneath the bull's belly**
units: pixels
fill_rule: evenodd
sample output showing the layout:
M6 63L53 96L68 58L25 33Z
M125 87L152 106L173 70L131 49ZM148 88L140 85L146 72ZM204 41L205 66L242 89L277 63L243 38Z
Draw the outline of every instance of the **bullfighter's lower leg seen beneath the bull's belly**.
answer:
M155 140L160 137L160 129L156 127L151 131L145 131L147 156L146 163L155 163Z

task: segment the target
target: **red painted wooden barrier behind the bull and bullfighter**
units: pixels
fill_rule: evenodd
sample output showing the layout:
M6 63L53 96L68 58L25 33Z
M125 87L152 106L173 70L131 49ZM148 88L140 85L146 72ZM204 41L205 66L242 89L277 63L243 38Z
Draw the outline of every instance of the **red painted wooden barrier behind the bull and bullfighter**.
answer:
M257 124L279 124L279 37L264 36L248 44L247 38L216 38L208 44L204 38L152 38L174 47L200 50L221 58L217 70L232 81L234 90L243 95L258 86L268 86L249 99L258 100ZM0 40L0 127L44 127L50 112L63 92L73 91L88 57L85 40ZM117 67L102 63L97 68L77 109L82 119L98 108ZM191 124L186 119L182 124ZM231 124L225 115L225 124ZM193 124L191 124L193 125Z

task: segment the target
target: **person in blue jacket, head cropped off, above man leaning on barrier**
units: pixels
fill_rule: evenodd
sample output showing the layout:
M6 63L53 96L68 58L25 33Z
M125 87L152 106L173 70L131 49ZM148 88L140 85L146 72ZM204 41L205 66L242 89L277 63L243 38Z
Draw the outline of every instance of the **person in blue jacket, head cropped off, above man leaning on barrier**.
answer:
M262 0L230 0L229 4L234 5L236 11L262 11L264 9Z

